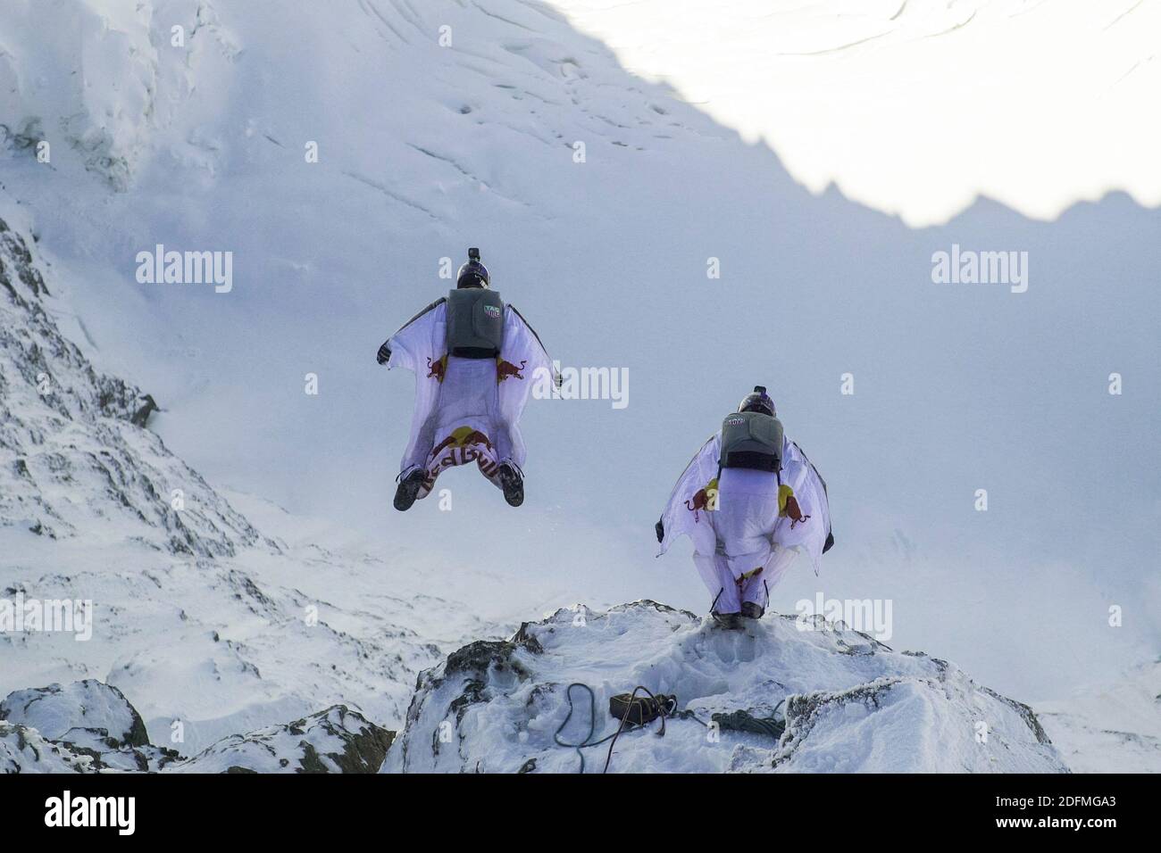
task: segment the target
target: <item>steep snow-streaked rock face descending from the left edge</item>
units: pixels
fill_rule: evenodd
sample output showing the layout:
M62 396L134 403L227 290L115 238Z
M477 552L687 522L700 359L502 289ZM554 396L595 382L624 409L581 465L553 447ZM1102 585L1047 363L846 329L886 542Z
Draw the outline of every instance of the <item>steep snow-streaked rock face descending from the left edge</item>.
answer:
M258 532L145 429L152 396L98 373L45 310L43 265L0 221L0 527L114 526L168 554L232 556Z

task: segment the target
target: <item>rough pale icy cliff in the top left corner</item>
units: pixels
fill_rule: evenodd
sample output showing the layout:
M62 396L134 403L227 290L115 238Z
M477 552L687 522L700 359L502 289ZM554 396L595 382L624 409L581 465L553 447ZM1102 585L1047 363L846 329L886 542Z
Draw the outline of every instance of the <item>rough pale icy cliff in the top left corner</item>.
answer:
M182 44L188 30L180 53L171 30L179 22ZM35 156L49 140L49 162L79 166L116 190L130 186L156 131L187 109L193 89L212 82L203 53L239 51L203 0L12 0L3 24L0 144ZM51 145L60 146L55 154Z

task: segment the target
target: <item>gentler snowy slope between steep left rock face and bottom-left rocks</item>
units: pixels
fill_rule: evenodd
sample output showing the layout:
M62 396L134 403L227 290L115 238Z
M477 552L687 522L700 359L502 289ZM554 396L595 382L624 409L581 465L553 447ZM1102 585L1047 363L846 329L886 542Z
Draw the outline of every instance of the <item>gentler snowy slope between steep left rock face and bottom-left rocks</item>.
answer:
M462 605L423 595L405 564L372 556L252 549L194 561L59 544L53 554L19 549L0 565L0 598L91 600L93 638L0 634L0 692L99 679L132 697L154 740L180 722L190 752L332 704L392 728L420 670L461 637L493 630ZM86 559L95 565L78 568ZM53 563L74 568L43 568Z

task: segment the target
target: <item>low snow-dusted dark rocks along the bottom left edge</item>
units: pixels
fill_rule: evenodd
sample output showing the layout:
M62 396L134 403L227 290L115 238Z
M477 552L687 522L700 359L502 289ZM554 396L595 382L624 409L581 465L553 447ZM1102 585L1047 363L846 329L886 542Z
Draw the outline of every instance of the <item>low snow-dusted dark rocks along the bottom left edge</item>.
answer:
M85 680L0 702L0 773L374 773L392 732L334 706L284 725L223 738L196 756L149 743L115 687Z

